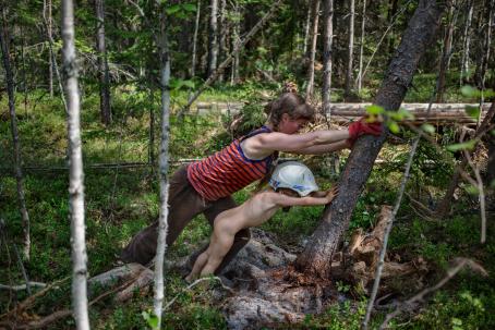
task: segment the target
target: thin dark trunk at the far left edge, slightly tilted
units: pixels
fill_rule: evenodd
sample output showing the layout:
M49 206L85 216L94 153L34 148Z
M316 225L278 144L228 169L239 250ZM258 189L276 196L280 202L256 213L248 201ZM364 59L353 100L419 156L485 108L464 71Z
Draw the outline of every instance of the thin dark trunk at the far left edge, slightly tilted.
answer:
M12 131L12 144L13 144L13 156L14 156L14 171L15 171L15 181L17 188L17 200L19 200L19 210L21 212L23 234L24 234L24 245L23 245L23 256L25 259L29 259L31 252L31 223L29 215L27 213L26 208L26 198L24 195L24 179L22 173L22 158L21 158L21 142L19 139L17 131L17 118L15 115L15 95L14 95L14 75L11 68L10 61L10 51L8 40L10 40L10 34L7 24L7 17L4 9L1 9L2 15L2 30L0 30L0 46L2 48L2 59L3 68L5 69L5 80L7 80L7 93L9 95L9 112L10 112L10 124Z

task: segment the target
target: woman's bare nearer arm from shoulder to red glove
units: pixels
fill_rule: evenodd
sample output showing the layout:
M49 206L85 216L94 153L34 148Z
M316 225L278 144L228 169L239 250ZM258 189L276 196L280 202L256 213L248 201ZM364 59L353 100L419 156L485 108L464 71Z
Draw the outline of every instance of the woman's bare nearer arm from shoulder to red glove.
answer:
M279 132L262 133L246 138L242 143L242 150L249 158L259 159L276 150L299 154L313 146L328 145L347 138L349 138L348 130L315 131L293 135Z

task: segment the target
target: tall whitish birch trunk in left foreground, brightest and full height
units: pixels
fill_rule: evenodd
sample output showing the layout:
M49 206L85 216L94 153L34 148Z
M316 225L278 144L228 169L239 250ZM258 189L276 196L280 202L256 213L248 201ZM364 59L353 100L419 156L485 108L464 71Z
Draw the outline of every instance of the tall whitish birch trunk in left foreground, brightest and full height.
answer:
M89 329L87 314L87 268L84 224L84 169L81 143L80 93L75 59L74 7L62 1L62 71L68 96L69 197L72 242L72 308L77 329Z

